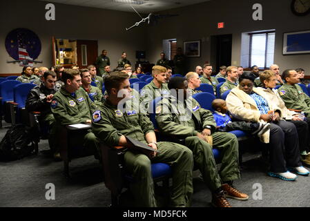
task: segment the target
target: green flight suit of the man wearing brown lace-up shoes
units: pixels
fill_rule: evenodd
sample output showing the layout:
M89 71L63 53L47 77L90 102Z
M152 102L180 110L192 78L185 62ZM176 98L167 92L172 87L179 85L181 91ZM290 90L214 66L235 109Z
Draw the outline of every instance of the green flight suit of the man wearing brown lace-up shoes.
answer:
M184 145L193 151L194 162L211 191L220 188L222 182L240 178L237 137L232 133L215 132L216 123L211 111L201 108L195 99L189 97L182 103L175 97L162 99L156 107L156 121L161 133L175 140L184 140ZM197 137L198 132L208 127L213 137L213 146ZM222 155L219 172L212 148L219 149Z

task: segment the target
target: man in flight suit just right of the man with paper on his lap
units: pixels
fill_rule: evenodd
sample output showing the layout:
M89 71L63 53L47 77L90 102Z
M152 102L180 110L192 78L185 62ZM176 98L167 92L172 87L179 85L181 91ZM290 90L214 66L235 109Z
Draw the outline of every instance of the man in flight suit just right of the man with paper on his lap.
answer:
M86 68L81 69L80 72L82 83L81 88L83 88L86 91L92 102L94 102L97 106L100 106L102 104L102 97L103 97L102 90L100 90L95 86L90 85L92 80L88 69Z

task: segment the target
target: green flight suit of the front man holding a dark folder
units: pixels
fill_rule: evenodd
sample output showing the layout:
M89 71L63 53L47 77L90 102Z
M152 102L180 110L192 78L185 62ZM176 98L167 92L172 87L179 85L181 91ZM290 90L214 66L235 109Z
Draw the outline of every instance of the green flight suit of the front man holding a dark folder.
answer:
M122 135L148 144L147 133L154 133L150 119L139 112L139 107L126 102L126 108L119 110L108 100L93 113L93 131L101 142L109 146L118 146ZM151 175L152 163L166 163L173 171L173 186L171 189L171 206L189 206L193 193L192 168L193 155L191 151L180 144L158 142L157 149L161 153L149 159L143 153L130 151L124 154L126 171L129 171L135 182L130 182L137 206L157 206L154 198L154 185Z

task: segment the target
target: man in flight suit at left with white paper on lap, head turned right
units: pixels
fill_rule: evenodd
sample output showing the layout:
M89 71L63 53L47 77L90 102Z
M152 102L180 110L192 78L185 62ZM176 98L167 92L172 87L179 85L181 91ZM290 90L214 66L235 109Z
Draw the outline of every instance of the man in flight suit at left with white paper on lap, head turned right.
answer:
M64 69L61 75L64 86L55 93L50 104L52 114L57 124L91 124L91 111L97 106L88 97L81 86L79 70ZM91 130L84 137L75 137L76 144L83 144L85 148L97 155L99 140Z

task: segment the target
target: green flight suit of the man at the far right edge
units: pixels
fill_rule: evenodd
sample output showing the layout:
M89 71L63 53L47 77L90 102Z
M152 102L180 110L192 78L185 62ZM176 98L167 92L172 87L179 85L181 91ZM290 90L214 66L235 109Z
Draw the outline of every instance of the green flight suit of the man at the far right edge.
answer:
M310 120L310 97L298 84L283 84L278 88L278 93L287 108L304 111Z

